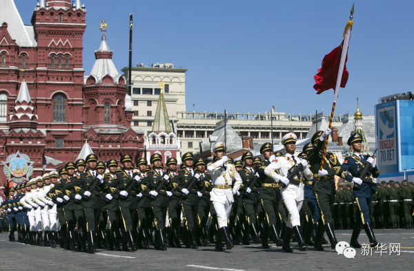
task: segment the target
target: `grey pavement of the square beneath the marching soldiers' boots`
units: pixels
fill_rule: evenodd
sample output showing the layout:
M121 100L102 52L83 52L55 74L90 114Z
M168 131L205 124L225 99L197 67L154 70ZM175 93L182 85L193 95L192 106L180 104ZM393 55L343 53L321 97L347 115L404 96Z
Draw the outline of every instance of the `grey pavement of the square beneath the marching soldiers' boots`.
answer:
M337 230L338 241L351 238L351 230ZM324 252L310 248L299 252L291 243L293 253L273 246L235 246L226 252L216 252L214 246L198 250L168 248L167 251L138 250L115 252L98 250L95 254L70 252L62 249L10 243L8 233L0 234L0 270L413 270L414 230L375 230L377 241L385 244L382 255L362 255L357 249L355 259L325 246ZM17 235L16 235L17 238ZM368 243L364 230L359 243ZM390 243L400 243L400 255L390 255Z

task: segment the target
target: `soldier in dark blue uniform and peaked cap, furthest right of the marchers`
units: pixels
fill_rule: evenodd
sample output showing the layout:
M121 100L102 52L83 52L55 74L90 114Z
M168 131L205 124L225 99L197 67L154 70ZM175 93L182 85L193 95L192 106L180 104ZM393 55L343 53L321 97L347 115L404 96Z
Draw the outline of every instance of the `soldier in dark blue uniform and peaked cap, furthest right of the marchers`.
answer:
M345 180L354 182L354 185L359 184L360 186L359 189L354 189L353 191L353 195L359 208L359 215L355 215L357 220L355 221L353 228L350 245L354 248L361 248L357 239L359 237L359 232L361 231L361 224L363 224L371 246L375 248L375 246L377 246L377 240L375 239L373 226L371 224L369 206L371 204L371 196L376 192L377 186L373 182L363 182L363 180L358 177L358 171L364 166L365 162L368 162L373 167L371 170L373 177L378 177L380 172L378 171L373 158L362 155L362 135L360 133L353 133L349 137L347 143L349 146L352 146L354 153L346 158L344 164L342 164L344 171L348 171L348 174L345 175Z

